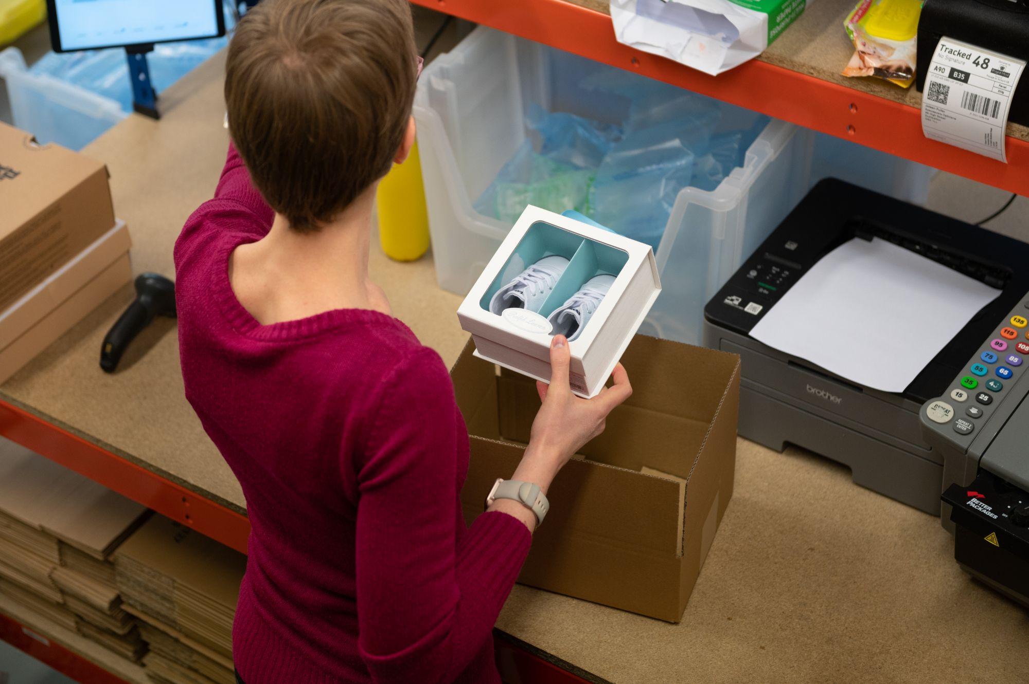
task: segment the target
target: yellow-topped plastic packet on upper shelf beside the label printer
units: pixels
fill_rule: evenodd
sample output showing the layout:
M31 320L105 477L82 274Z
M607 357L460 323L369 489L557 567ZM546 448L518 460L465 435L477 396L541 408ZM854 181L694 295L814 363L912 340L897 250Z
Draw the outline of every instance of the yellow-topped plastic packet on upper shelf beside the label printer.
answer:
M922 0L861 0L844 28L854 55L844 76L876 76L909 87L915 82Z

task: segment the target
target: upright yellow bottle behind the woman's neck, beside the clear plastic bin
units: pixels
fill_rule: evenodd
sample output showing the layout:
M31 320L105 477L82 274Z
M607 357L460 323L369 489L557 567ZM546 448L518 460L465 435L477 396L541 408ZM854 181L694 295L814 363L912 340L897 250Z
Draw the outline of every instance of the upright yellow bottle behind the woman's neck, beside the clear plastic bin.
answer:
M418 143L402 164L393 164L379 184L379 242L396 261L415 261L429 249L429 214Z

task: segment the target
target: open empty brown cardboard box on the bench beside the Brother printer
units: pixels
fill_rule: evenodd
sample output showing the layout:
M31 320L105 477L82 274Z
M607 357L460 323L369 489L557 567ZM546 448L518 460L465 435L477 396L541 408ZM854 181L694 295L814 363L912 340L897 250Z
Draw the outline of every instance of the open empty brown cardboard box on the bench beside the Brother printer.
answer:
M519 581L678 622L733 496L740 359L637 335L622 362L633 395L554 481ZM521 460L539 397L470 343L451 377L471 443L470 524Z

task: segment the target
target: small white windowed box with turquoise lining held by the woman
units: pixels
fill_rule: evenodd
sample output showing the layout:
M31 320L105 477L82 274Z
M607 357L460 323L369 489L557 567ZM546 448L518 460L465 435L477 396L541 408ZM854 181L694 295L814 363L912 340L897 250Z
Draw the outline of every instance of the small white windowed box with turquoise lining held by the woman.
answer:
M569 263L538 312L490 311L494 293L526 267L552 255L565 257ZM572 390L594 396L661 294L650 245L596 224L527 206L458 307L461 328L471 333L481 358L548 382L553 336L546 317L601 273L614 275L614 282L578 338L568 345Z

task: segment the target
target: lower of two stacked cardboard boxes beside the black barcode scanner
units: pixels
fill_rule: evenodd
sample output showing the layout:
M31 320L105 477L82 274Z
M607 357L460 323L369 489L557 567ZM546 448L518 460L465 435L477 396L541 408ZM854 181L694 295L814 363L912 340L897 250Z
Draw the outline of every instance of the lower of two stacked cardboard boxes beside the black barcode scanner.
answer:
M97 240L0 312L0 382L132 280L131 246L125 222L108 226Z

